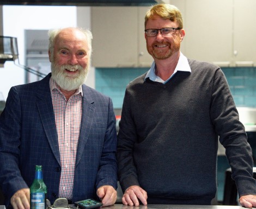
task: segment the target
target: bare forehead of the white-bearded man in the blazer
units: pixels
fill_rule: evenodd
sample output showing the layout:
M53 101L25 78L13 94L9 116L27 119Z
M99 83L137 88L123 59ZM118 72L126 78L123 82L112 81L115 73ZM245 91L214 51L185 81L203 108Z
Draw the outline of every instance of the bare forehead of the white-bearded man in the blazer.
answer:
M78 30L63 30L55 38L55 47L88 50L87 37Z

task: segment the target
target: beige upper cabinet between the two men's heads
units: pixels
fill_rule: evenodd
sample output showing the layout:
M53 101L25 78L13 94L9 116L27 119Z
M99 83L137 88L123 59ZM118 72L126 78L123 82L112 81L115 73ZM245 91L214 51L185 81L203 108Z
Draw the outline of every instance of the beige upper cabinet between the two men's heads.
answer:
M149 67L144 38L148 7L92 7L94 67ZM142 15L143 14L143 15Z

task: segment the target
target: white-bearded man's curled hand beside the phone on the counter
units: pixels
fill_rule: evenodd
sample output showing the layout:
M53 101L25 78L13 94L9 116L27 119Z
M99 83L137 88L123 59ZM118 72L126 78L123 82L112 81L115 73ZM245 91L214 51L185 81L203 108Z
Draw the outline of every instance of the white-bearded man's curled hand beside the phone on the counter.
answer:
M97 196L101 199L102 206L114 205L117 201L117 191L109 185L98 188Z

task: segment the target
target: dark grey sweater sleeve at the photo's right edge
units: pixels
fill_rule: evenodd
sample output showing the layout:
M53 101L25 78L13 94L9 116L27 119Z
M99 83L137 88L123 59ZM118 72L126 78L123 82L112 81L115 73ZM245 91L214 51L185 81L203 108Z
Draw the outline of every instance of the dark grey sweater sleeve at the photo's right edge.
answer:
M220 142L225 148L239 197L255 195L252 149L247 142L245 128L239 121L239 114L221 69L216 71L213 83L210 114Z

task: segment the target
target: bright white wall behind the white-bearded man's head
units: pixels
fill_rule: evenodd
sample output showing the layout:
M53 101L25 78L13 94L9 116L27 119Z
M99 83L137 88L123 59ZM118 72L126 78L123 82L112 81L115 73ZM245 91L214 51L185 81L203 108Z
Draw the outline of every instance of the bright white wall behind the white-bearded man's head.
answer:
M90 27L90 8L79 9L81 26ZM3 35L17 37L20 64L25 65L25 29L51 29L77 26L77 8L68 6L3 6ZM7 99L11 86L25 83L25 70L7 61L0 68L0 92ZM94 87L94 70L87 85Z

